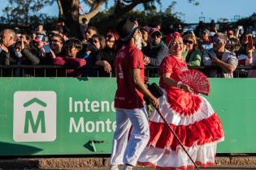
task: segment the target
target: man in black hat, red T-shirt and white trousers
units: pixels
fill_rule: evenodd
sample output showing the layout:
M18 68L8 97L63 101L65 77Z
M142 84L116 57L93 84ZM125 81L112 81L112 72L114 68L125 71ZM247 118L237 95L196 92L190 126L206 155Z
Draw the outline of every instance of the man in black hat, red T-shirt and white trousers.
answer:
M124 19L118 24L117 30L124 45L115 58L116 130L111 170L119 169L119 164L124 164L125 170L136 166L137 159L150 138L143 96L150 99L156 108L159 102L144 85L143 53L136 46L141 42L141 32L137 28L137 23ZM131 126L132 132L128 140Z

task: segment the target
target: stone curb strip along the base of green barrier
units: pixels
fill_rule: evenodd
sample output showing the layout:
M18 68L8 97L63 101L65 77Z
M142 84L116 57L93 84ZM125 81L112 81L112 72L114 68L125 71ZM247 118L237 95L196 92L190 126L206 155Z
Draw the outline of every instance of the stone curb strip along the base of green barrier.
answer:
M64 170L107 170L108 158L27 158L0 159L0 170L6 169L64 169ZM2 169L1 169L2 168ZM216 158L215 168L200 168L203 170L256 170L256 156L229 155ZM153 168L134 168L134 170L153 170Z

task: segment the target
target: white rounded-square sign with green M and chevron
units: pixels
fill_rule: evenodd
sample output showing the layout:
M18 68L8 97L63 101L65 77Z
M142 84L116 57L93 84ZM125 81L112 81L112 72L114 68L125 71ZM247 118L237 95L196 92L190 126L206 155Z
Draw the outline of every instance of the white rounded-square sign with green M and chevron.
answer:
M55 91L16 91L13 102L15 142L51 142L56 138Z

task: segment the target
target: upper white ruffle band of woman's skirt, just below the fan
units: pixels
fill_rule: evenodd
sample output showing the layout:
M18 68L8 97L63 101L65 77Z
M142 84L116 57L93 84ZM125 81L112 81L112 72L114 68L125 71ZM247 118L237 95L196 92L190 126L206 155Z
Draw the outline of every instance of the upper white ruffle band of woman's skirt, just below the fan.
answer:
M197 112L190 116L181 116L180 113L176 113L176 111L171 108L169 102L167 101L167 92L163 88L162 90L163 96L159 98L160 111L169 124L190 125L194 124L196 121L201 121L211 117L215 113L209 102L203 96L200 96L202 102ZM150 121L163 122L162 118L154 108L150 114Z

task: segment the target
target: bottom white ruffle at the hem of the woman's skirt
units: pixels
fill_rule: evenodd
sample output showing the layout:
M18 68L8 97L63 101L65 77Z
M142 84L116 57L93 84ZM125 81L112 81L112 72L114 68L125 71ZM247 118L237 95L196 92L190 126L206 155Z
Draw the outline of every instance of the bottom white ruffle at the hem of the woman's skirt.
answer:
M222 139L223 140L223 139ZM222 141L219 140L218 142ZM186 148L189 155L193 160L199 161L202 164L215 163L217 142L206 143L202 146L193 146ZM158 167L182 167L193 166L189 156L186 155L184 150L179 147L177 151L161 149L157 147L145 147L145 150L141 153L141 157L138 159L141 163L151 163Z

